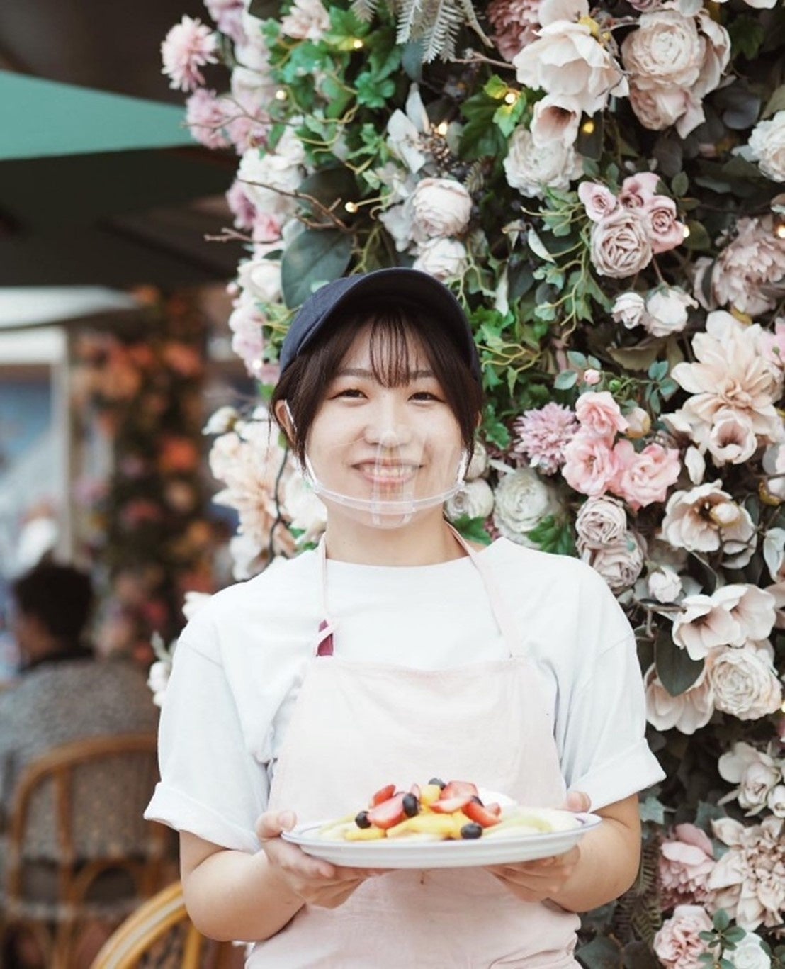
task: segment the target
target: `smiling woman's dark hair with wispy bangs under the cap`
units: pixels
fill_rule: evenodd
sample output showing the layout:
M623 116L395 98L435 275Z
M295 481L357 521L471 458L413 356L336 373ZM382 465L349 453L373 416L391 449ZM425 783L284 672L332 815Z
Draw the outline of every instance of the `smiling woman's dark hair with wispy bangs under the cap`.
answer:
M357 331L369 324L371 367L383 387L402 387L408 383L412 372L410 338L413 336L422 343L461 429L464 447L470 452L482 411L482 389L471 373L465 351L449 331L416 303L402 299L381 308L365 304L348 306L324 328L326 332L322 330L288 365L273 391L270 407L275 414L275 405L280 400L287 401L296 428L295 439L289 443L300 461L305 460L308 432L330 382L346 358ZM282 426L282 430L287 433L286 427Z

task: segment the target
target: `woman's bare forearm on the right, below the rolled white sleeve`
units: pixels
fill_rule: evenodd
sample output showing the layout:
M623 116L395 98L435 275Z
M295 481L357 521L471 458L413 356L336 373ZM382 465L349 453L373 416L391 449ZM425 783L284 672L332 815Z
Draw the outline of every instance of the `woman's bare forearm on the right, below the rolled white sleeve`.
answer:
M569 881L550 897L569 912L605 905L633 884L640 857L640 831L605 818L581 842L581 858Z

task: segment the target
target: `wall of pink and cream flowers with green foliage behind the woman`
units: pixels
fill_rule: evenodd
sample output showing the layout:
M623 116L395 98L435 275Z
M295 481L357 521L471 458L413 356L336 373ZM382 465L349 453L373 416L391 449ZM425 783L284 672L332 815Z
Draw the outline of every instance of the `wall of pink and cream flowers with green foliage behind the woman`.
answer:
M437 276L488 396L448 516L580 555L636 629L668 779L642 798L640 878L585 918L579 957L785 965L783 5L205 6L165 73L196 139L238 156L249 373L275 381L319 284ZM264 408L208 430L236 577L316 541Z

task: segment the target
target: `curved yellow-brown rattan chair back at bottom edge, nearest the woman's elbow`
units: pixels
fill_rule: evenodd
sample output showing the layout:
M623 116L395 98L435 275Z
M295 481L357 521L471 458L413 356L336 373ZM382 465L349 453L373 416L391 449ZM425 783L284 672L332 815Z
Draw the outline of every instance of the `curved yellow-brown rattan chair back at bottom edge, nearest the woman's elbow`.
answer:
M188 918L182 887L175 882L123 922L91 969L230 969L242 961L241 950L198 933Z

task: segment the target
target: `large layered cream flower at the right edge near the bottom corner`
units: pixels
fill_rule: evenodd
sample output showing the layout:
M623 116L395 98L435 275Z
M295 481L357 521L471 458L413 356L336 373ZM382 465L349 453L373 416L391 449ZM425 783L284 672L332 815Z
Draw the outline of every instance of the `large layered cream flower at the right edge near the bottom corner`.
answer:
M711 901L749 930L773 927L785 915L785 837L779 818L744 826L732 818L711 822L728 846L709 876Z

